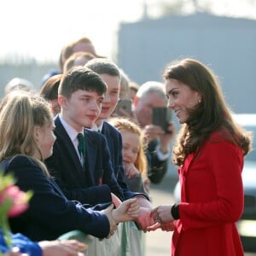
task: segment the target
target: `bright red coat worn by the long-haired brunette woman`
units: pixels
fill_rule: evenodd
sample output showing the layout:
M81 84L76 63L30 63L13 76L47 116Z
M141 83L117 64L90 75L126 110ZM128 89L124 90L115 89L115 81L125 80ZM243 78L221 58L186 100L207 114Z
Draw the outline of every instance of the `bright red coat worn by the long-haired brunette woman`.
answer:
M214 132L199 157L189 154L178 170L180 219L172 236L172 255L244 255L236 230L243 211L240 147Z

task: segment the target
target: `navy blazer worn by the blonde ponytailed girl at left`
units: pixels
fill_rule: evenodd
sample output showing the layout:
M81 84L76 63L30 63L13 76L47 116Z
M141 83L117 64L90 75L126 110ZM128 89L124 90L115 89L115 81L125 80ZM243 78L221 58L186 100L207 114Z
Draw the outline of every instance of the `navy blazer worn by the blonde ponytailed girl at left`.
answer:
M90 205L83 207L79 202L68 201L58 185L46 177L41 166L31 158L20 154L12 160L3 160L0 167L1 171L14 175L21 190L33 193L28 210L9 219L13 233L21 233L32 241L54 240L71 230L100 238L108 236L107 216L91 211ZM104 206L96 209L102 208Z

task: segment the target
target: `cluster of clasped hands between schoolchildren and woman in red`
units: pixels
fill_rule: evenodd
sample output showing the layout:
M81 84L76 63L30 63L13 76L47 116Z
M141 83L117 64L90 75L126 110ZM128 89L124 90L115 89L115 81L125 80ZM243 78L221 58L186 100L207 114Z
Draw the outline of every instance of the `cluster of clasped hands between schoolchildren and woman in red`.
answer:
M113 236L117 230L117 224L125 221L135 221L138 228L144 232L157 229L174 230L176 220L172 217L172 206L159 206L153 209L144 197L135 197L121 202L115 195L112 195L112 200L113 205L103 211L110 224L107 238ZM116 208L113 209L113 206Z

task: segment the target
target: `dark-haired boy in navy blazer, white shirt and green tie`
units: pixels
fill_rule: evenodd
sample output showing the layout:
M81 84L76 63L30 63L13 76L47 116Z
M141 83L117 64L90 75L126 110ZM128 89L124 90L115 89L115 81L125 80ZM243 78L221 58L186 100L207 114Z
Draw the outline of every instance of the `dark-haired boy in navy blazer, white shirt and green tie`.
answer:
M141 206L148 207L144 195L128 191L125 184L122 188L119 186L106 138L100 132L84 128L96 122L106 93L107 86L102 78L89 68L74 67L63 75L58 96L61 113L55 117L56 141L46 165L69 200L96 205L137 196ZM82 154L79 152L79 133L85 140ZM143 229L154 224L149 217L151 208L151 204L150 209L143 208L137 218Z

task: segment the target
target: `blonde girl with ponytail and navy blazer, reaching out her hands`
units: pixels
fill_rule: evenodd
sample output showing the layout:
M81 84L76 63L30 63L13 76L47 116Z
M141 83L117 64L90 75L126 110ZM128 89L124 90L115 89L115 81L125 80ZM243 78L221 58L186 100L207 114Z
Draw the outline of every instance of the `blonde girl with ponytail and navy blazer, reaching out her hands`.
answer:
M100 205L96 209L102 211L94 211L63 195L44 166L55 136L49 104L42 98L21 91L9 94L0 106L0 120L0 170L13 173L21 190L33 192L29 209L10 219L13 232L34 241L54 240L71 230L104 238L113 234L117 223L137 218L137 199L115 210Z

